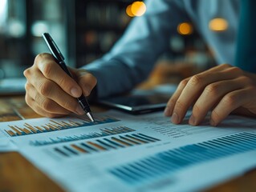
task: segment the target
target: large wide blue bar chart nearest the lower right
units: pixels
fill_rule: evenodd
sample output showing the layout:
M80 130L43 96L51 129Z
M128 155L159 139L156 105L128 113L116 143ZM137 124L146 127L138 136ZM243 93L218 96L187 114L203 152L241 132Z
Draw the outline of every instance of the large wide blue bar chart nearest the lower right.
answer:
M201 162L224 158L256 149L256 134L239 133L207 142L182 146L117 166L109 172L123 182L136 185L149 179L174 173Z

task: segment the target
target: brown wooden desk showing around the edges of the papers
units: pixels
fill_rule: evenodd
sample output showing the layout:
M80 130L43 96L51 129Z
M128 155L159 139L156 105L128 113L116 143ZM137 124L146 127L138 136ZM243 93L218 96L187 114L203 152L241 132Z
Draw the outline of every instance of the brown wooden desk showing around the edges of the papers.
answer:
M0 106L1 122L40 117L26 106L22 96L0 98ZM204 176L202 175L202 177ZM17 152L0 153L0 192L9 191L64 190L28 162L26 158L23 158L21 154ZM205 191L256 191L256 170Z

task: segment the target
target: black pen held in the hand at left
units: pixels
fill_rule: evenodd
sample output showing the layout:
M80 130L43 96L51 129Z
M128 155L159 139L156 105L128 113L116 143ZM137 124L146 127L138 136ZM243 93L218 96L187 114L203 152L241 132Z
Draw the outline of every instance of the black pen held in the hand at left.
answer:
M64 62L63 54L61 54L58 46L56 45L55 41L51 38L51 35L48 33L42 34L44 41L47 43L47 46L51 50L51 54L55 58L55 61L59 64L59 66L68 74L71 78L72 75L70 71L67 69L66 63ZM83 96L83 94L77 98L79 105L83 108L83 110L86 112L88 118L90 118L91 122L94 122L94 118L91 114L91 109L89 106L89 103L87 102L87 99Z

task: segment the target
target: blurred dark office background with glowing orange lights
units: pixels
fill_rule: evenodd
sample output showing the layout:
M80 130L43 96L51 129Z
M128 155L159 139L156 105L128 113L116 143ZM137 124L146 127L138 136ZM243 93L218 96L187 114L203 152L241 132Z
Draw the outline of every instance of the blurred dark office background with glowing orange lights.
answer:
M128 23L146 11L144 2L134 0L0 0L0 79L22 77L36 54L49 52L44 32L55 38L67 65L79 67L110 50ZM219 33L227 23L214 18L209 27ZM170 35L169 50L157 62L165 73L181 76L191 72L185 66L203 70L214 65L210 47L188 21Z

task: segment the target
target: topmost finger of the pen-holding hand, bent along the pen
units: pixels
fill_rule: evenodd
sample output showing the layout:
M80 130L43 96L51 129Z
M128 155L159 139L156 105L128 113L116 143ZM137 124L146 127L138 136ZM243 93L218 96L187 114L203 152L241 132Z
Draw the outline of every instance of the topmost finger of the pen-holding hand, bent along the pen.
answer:
M57 83L67 94L79 98L82 90L79 85L55 62L51 54L39 54L35 58L39 70L45 78Z

